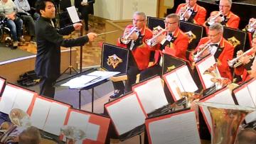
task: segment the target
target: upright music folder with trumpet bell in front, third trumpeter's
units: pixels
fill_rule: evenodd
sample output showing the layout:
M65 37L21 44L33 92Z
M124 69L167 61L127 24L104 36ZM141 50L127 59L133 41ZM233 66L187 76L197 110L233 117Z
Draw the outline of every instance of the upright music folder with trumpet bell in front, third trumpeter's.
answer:
M210 80L211 78L215 77L213 74L220 76L218 67L215 65L217 64L213 55L208 55L207 57L204 57L200 61L196 62L196 70L198 72L201 83L203 84L203 89L213 87L214 83ZM215 70L209 72L211 67L215 67Z

